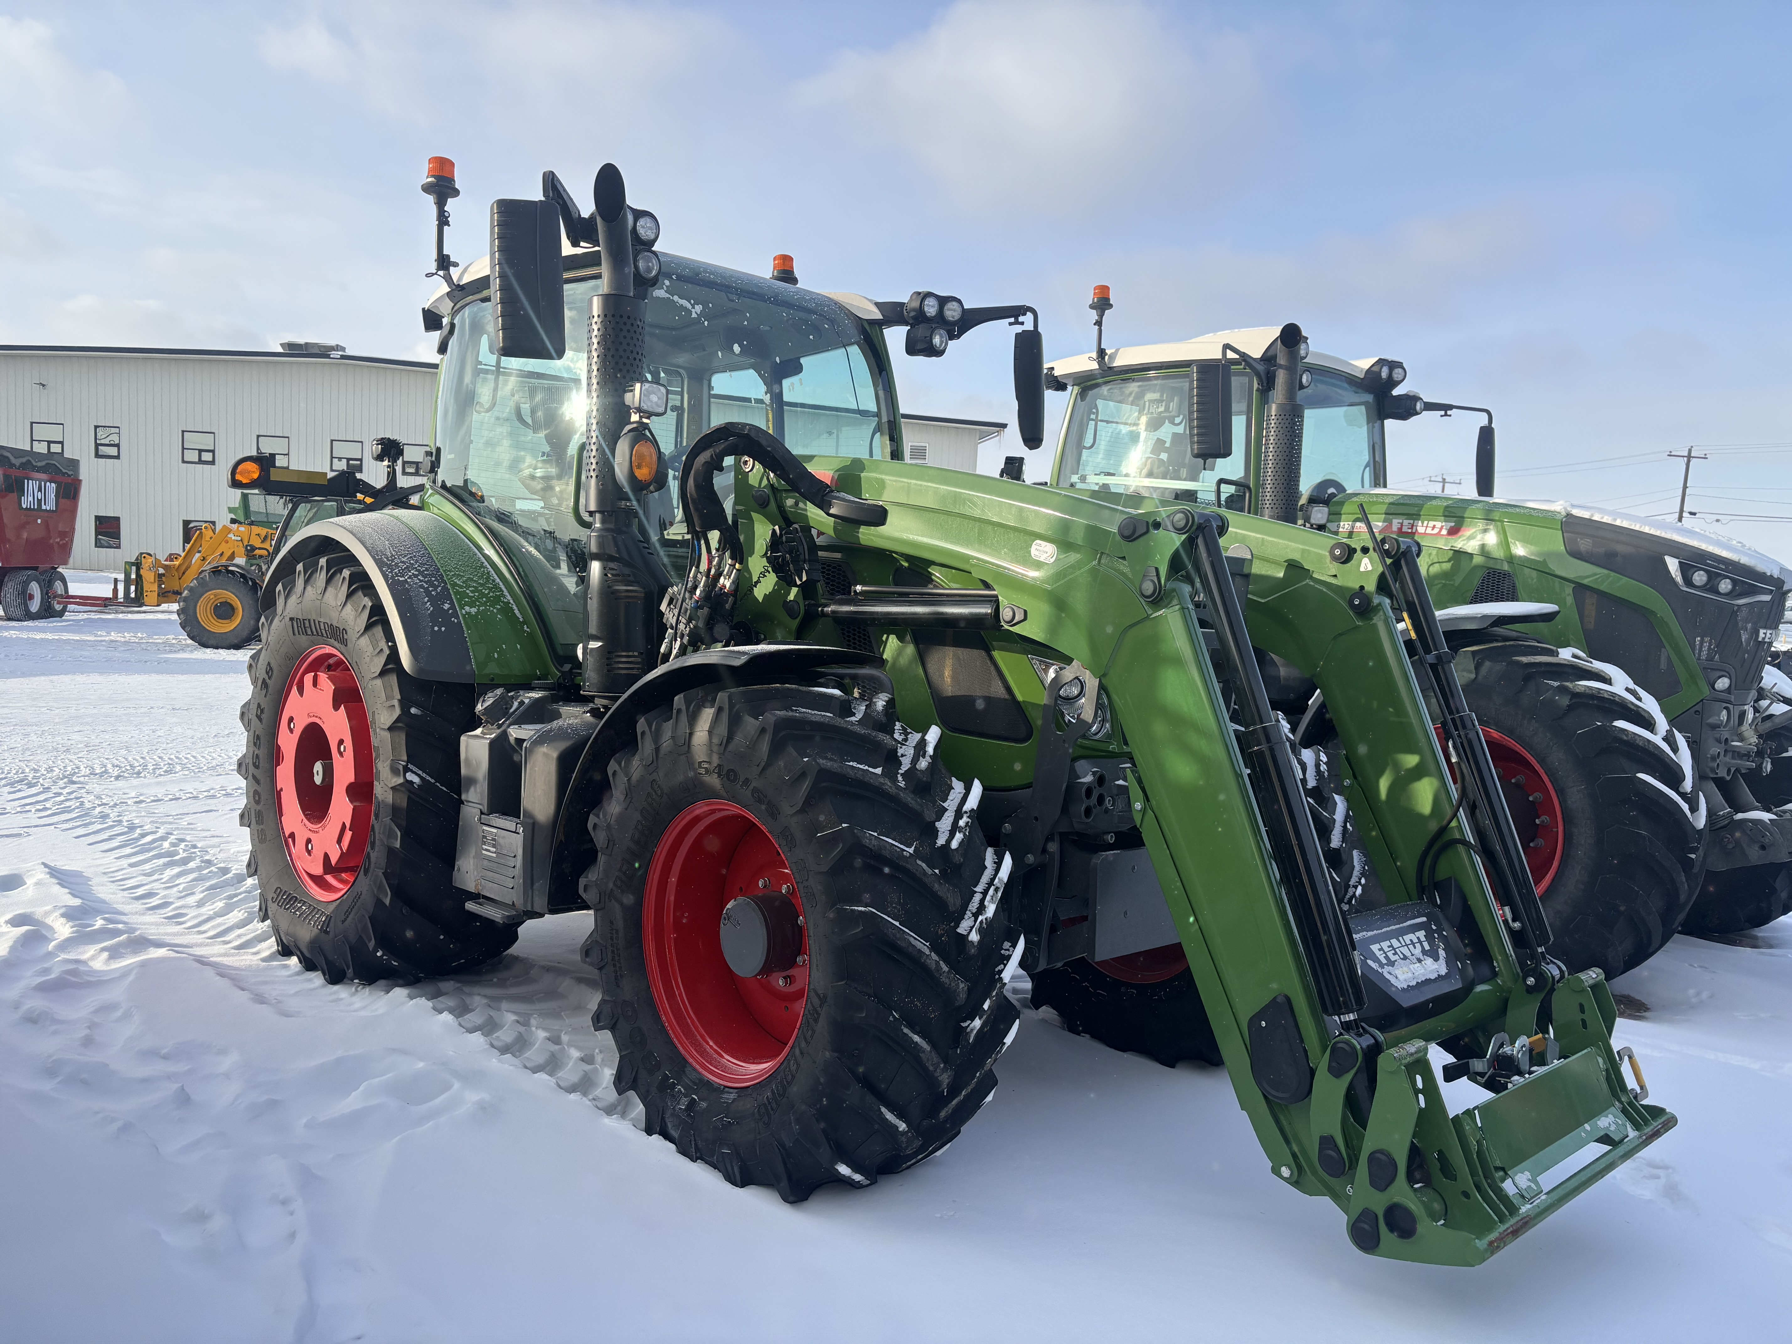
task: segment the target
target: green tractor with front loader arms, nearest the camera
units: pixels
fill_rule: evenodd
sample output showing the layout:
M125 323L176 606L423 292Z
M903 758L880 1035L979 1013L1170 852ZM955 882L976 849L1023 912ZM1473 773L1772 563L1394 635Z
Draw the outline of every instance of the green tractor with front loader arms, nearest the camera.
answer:
M787 1201L959 1134L1016 966L1186 977L1274 1179L1367 1254L1480 1263L1674 1125L1550 955L1409 539L903 462L885 333L1021 326L1038 444L1030 308L658 242L613 165L590 213L493 202L489 265L437 233L434 473L267 577L242 823L285 955L448 975L584 914L616 1091ZM1254 649L1326 694L1378 909Z

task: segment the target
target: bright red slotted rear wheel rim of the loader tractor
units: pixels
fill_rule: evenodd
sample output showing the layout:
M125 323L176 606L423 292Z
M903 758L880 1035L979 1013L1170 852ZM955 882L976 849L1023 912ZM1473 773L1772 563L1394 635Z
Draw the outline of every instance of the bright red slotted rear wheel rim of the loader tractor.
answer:
M328 645L299 658L280 697L274 815L299 885L340 898L373 833L373 729L355 672Z

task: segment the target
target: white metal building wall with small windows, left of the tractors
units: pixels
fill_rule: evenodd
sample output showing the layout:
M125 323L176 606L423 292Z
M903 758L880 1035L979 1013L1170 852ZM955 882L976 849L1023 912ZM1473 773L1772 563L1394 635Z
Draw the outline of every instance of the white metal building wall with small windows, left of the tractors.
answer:
M262 349L0 346L0 443L81 459L70 566L122 570L228 516L226 468L253 452L283 466L364 471L380 435L430 435L435 364L287 342Z

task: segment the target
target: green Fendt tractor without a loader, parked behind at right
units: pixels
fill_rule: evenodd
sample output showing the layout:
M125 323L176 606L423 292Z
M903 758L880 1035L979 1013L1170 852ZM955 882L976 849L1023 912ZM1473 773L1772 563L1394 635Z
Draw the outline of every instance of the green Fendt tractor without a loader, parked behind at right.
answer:
M1106 294L1091 305L1111 308ZM1570 968L1618 975L1679 928L1727 934L1792 909L1792 681L1769 667L1787 570L1724 538L1495 489L1493 414L1400 392L1398 360L1342 360L1254 328L1057 360L1073 396L1052 480L1410 538L1443 606L1532 880ZM1283 396L1287 400L1283 400ZM1387 423L1475 412L1482 498L1387 491ZM1310 679L1265 659L1301 747L1337 731ZM1432 704L1434 720L1439 706ZM1314 710L1314 713L1308 713ZM1772 774L1774 758L1781 772ZM1362 853L1346 828L1335 833ZM1373 878L1362 900L1376 903Z

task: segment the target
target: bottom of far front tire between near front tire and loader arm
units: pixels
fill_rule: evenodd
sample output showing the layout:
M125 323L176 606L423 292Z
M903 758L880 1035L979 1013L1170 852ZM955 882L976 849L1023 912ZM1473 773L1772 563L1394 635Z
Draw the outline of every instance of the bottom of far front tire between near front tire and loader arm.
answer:
M1134 984L1077 959L1032 977L1032 1005L1052 1009L1073 1036L1142 1054L1165 1068L1185 1059L1220 1064L1208 1009L1186 966L1168 980Z

